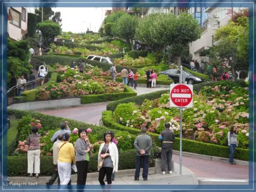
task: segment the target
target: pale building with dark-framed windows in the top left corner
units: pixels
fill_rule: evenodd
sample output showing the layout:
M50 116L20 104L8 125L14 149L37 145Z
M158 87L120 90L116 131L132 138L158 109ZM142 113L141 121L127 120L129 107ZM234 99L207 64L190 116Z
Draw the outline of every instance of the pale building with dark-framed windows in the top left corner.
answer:
M8 8L8 37L18 41L23 39L27 33L27 8L26 7L10 7Z

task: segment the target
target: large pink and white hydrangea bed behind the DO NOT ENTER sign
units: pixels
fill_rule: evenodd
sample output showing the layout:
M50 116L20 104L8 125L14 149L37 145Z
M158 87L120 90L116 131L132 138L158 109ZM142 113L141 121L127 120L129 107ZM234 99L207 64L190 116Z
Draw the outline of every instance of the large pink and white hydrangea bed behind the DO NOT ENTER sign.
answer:
M216 85L203 87L193 96L194 107L183 109L183 136L196 141L225 145L227 132L234 125L240 148L248 148L248 87ZM155 100L145 99L142 105L120 104L113 113L115 121L127 127L160 133L170 122L175 135L180 134L179 110L169 107L169 93Z

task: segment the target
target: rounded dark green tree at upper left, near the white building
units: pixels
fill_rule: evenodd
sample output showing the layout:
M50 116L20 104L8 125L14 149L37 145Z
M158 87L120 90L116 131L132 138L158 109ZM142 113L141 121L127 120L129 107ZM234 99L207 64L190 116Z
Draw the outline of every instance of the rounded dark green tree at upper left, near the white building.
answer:
M55 36L61 34L61 26L50 20L37 24L37 28L42 32L47 47L54 42Z

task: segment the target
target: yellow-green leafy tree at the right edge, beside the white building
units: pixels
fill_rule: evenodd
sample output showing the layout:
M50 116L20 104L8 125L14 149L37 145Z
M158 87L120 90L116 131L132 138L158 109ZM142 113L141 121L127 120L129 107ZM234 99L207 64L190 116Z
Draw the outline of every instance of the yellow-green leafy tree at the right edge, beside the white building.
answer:
M236 18L229 24L220 27L215 32L215 40L218 42L210 50L210 57L215 65L228 62L231 67L232 81L235 81L235 72L239 69L248 70L249 61L249 25L248 17Z

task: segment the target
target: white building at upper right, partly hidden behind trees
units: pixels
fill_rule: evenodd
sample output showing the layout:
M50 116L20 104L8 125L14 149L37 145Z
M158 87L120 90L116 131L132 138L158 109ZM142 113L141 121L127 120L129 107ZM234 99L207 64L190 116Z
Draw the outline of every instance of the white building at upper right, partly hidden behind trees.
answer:
M207 20L205 22L206 30L201 34L201 38L193 41L189 46L189 53L192 54L194 60L201 60L199 57L199 53L208 49L212 45L215 44L213 41L214 32L220 26L228 24L231 19L231 14L229 10L231 7L207 7L205 12L207 13ZM239 12L239 10L243 10L244 8L233 8L234 12ZM205 58L205 61L209 61L209 58Z

